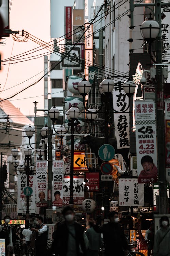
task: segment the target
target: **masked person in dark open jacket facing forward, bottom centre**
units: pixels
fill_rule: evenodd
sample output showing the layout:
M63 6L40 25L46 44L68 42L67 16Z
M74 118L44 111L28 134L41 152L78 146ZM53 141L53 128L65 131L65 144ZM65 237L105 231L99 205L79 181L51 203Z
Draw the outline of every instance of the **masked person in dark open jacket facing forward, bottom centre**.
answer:
M74 221L73 209L70 206L66 206L62 214L65 223L57 227L54 236L55 255L86 255L82 226Z

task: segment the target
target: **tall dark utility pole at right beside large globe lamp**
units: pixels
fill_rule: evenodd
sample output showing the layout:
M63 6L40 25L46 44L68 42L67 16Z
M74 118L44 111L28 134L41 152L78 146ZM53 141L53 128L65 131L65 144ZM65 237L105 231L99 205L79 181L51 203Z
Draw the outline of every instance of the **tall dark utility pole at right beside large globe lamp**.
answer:
M130 0L130 12L131 12L131 26L133 24L133 12L134 7L145 6L151 9L151 6L155 7L155 21L159 23L160 31L155 40L156 47L156 62L162 63L162 40L161 40L161 25L162 25L162 8L169 6L170 3L162 3L161 0L155 0L155 3L141 3L134 4L133 0ZM156 84L155 84L155 102L156 102L156 126L157 126L157 159L158 159L158 178L159 178L159 214L167 214L168 211L168 198L166 188L166 166L165 166L165 118L164 118L164 82L163 82L163 70L161 65L156 65Z

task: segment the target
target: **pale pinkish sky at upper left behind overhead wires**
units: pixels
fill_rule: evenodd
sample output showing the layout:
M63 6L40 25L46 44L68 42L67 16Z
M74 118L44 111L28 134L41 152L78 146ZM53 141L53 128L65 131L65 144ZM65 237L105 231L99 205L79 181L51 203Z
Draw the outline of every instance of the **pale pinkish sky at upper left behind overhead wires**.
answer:
M22 31L22 29L24 29L25 31L31 33L33 36L36 36L37 38L45 42L49 42L50 41L50 0L31 0L31 1L14 0L12 1L12 8L10 12L10 29L12 29L13 31ZM5 41L6 45L0 46L1 60L10 58L13 42L14 40L10 35L10 38L6 38L6 41ZM31 40L28 40L28 42L15 41L12 56L20 54L22 52L26 52L38 46L39 46L38 44L34 43ZM48 51L50 50L46 49L43 51L35 52L32 55L37 55L37 54L45 53ZM28 55L28 56L31 57L31 55ZM2 62L2 64L4 64L4 62ZM1 91L6 81L7 71L8 71L8 65L2 66L2 70L0 70ZM35 76L39 72L41 73ZM31 83L38 80L43 75L44 75L44 57L29 60L26 62L20 62L17 64L10 64L6 85L0 97L6 98L8 96L15 94L16 92L22 90L24 87L27 87ZM18 86L15 86L14 88L6 90L33 76L35 77ZM20 111L24 115L34 115L34 104L32 103L33 101L36 100L37 102L39 102L37 104L38 109L42 109L42 108L44 109L44 96L38 97L39 95L44 95L44 79L42 79L36 85L33 85L32 87L27 89L26 91L12 98L11 103L15 107L20 108ZM33 97L33 96L37 96L37 97L27 98L27 97ZM27 99L22 99L22 98L27 98ZM40 114L40 112L38 112L37 114Z

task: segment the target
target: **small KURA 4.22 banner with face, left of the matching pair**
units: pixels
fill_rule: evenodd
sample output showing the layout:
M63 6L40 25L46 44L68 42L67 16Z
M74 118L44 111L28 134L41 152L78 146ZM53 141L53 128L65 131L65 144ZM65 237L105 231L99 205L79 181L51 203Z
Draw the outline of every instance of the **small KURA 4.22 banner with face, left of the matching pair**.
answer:
M37 207L47 206L47 161L36 161L36 205Z

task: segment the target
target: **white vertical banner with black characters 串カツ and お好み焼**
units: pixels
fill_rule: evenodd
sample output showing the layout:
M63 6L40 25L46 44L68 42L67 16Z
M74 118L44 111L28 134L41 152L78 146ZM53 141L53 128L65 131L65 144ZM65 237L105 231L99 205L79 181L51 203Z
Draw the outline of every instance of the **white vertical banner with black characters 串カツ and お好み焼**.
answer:
M115 89L113 91L113 107L117 112L114 113L115 120L115 133L117 148L129 148L129 98L123 91L123 82L115 83Z

